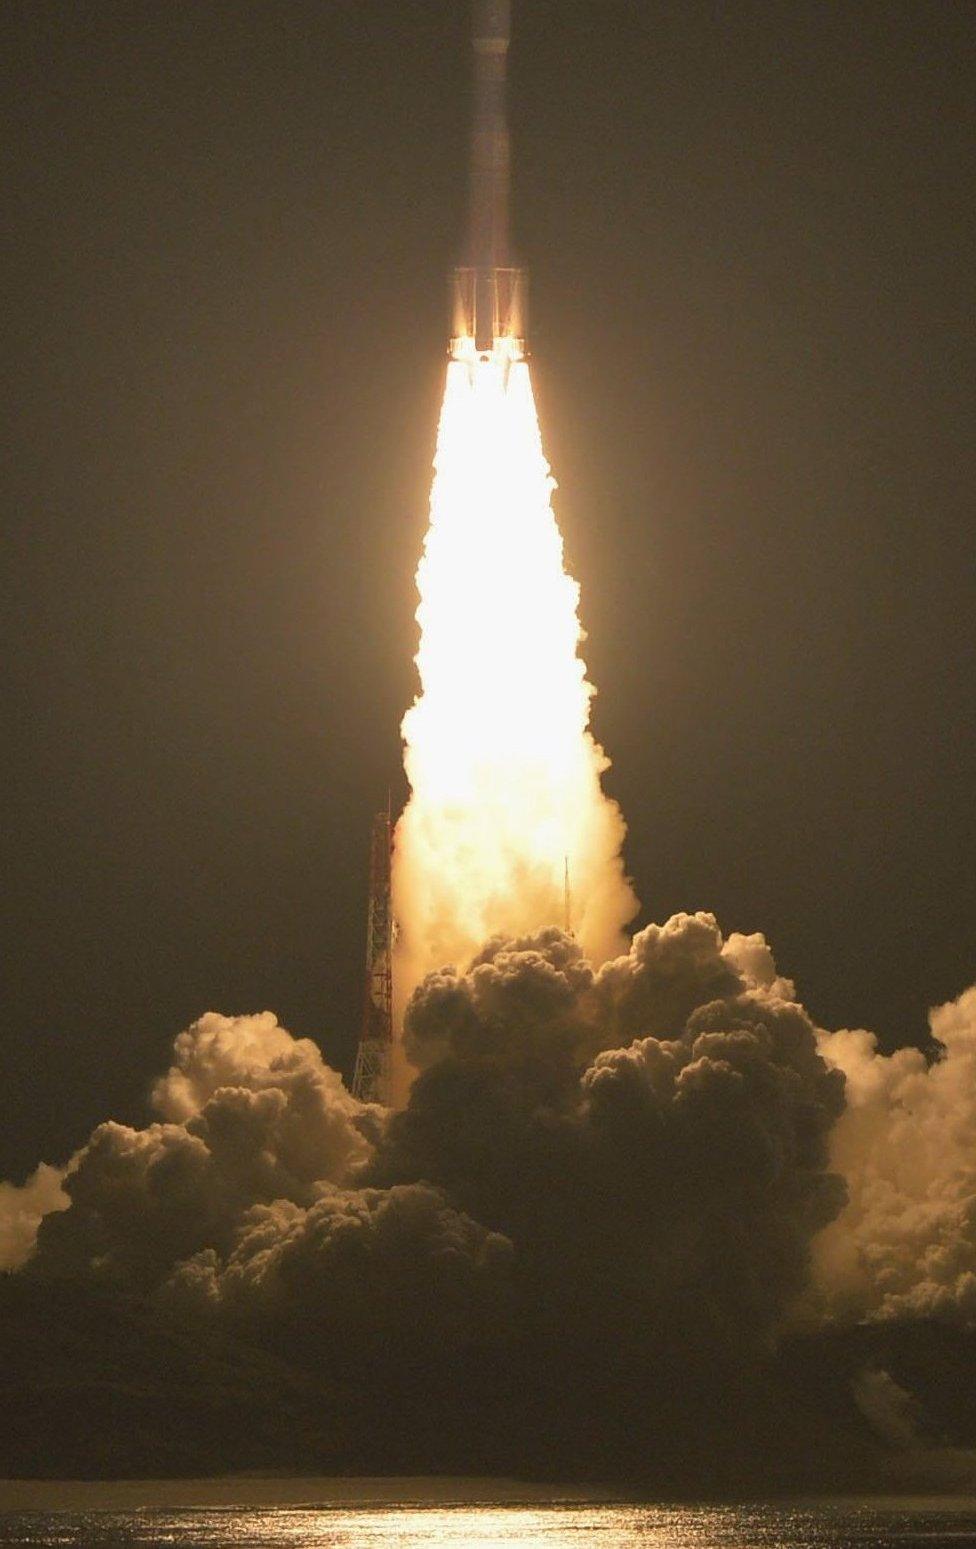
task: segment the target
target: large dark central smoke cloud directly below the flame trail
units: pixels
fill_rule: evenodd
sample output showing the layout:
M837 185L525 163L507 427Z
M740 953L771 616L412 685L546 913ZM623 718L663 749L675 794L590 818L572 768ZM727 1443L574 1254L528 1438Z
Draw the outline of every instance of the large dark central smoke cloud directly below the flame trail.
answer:
M767 1334L844 1200L843 1077L739 945L679 915L600 973L550 931L429 977L406 1016L424 1069L372 1176L426 1177L508 1235L530 1310L559 1304L576 1337L603 1343L612 1300L627 1360L662 1318L696 1343Z

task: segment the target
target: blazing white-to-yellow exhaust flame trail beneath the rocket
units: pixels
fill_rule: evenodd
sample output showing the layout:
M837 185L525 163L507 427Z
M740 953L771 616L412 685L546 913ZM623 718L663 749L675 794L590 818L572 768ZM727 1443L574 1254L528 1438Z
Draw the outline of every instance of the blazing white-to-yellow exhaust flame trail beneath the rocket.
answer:
M496 931L565 923L593 960L637 898L589 726L579 586L562 567L528 366L511 339L455 344L417 572L421 692L403 719L397 999Z

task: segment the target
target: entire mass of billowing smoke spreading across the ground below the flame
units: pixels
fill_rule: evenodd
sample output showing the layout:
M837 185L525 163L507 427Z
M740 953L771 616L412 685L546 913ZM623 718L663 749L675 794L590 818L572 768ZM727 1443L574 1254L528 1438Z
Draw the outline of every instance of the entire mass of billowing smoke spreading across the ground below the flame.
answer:
M496 937L414 994L397 1114L271 1015L208 1015L153 1123L0 1194L8 1293L339 1385L347 1465L857 1482L925 1453L911 1327L971 1314L971 998L930 1066L818 1030L708 914L601 970Z

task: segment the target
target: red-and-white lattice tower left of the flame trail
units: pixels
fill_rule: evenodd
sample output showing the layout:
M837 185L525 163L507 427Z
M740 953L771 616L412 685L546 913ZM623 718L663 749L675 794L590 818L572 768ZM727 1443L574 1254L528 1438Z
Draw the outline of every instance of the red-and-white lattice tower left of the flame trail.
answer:
M369 911L366 923L366 996L356 1050L353 1097L361 1103L389 1103L393 1052L393 908L390 809L376 813L370 844Z

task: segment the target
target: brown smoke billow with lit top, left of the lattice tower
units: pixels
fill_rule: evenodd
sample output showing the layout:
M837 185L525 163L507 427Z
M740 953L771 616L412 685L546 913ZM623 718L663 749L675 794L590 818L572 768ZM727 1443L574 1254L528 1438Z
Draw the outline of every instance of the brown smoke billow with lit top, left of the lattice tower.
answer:
M349 1095L307 1038L270 1013L201 1016L152 1094L160 1121L107 1121L65 1169L42 1227L51 1270L135 1289L228 1245L256 1205L311 1205L369 1156L376 1111Z

